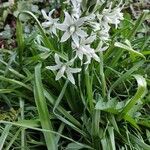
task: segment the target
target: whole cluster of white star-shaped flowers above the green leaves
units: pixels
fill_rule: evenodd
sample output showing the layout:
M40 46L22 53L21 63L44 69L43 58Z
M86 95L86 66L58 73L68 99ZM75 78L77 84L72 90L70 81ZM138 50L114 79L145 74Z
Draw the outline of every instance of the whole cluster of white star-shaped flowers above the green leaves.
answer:
M65 4L72 8L71 13L64 12L64 21L60 22L59 18L53 18L54 10L47 15L44 10L42 14L46 20L42 26L52 34L57 36L61 43L71 41L70 51L72 58L70 61L63 63L60 61L59 55L55 54L55 66L47 66L47 69L58 71L56 80L61 77L67 77L71 83L75 84L73 73L78 73L81 68L73 68L76 59L81 61L82 65L89 65L94 59L100 62L98 53L109 47L110 34L112 25L118 28L118 24L123 20L120 4L117 7L112 3L107 3L106 8L103 6L105 2L99 0L95 4L93 12L84 11L82 0L67 0ZM97 9L101 9L101 11ZM62 36L58 35L58 31L62 32ZM60 33L60 32L59 32ZM93 43L96 41L97 46ZM87 67L86 67L87 68Z

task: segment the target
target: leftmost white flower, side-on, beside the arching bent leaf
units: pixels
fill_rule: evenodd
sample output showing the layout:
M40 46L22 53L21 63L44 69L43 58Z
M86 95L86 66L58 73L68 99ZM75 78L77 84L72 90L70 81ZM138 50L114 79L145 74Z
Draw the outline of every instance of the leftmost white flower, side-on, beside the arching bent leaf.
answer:
M46 12L44 10L41 10L41 12L42 12L44 19L46 19L46 21L42 23L42 26L44 28L49 28L50 33L53 33L57 36L56 23L59 19L52 18L52 14L54 12L54 9L51 10L48 15L46 14Z

